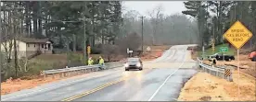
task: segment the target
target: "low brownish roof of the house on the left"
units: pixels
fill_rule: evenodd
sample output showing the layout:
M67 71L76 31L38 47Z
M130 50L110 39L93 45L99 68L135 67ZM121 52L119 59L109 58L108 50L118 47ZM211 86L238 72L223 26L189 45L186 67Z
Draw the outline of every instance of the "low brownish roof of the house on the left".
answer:
M19 40L26 43L45 43L46 41L53 43L53 41L49 39L20 38Z

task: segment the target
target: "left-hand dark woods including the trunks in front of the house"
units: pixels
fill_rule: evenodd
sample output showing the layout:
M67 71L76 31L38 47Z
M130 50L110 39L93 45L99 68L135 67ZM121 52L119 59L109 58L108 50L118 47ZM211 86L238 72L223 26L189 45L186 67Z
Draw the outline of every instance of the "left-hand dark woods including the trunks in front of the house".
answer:
M121 9L119 1L1 1L1 75L27 72L28 59L18 59L16 40L23 37L49 38L54 48L68 51L82 51L85 44L94 46L97 41L115 43Z

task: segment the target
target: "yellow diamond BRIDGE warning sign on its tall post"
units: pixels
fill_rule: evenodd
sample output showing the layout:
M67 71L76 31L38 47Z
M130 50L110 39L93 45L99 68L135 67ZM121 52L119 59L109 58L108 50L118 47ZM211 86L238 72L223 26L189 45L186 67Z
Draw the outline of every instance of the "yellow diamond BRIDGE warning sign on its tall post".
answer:
M229 28L224 33L224 38L228 40L236 49L237 49L237 72L238 72L238 100L240 96L240 87L239 87L239 77L240 77L240 71L239 71L239 50L240 48L252 37L252 33L248 28L246 28L241 22L237 20L235 24L232 25L231 28Z

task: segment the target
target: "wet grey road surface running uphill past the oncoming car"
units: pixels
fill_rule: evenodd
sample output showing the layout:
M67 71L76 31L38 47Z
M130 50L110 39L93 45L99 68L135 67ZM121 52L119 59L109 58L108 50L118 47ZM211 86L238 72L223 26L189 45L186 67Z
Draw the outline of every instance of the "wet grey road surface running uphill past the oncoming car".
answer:
M124 68L85 74L1 96L2 101L173 101L197 72L187 46L177 45L143 71Z

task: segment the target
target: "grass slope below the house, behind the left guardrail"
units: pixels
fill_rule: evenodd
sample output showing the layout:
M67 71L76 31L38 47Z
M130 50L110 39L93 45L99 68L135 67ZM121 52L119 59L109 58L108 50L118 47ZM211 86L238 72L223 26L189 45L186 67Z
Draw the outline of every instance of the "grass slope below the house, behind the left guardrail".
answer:
M91 56L93 57L96 64L100 54L91 54ZM102 57L104 58L104 56ZM69 60L67 58L69 58ZM70 67L81 66L81 65L84 65L86 62L87 61L83 60L83 53L70 52L68 54L68 57L66 53L41 54L28 61L26 71L24 67L24 62L22 61L19 64L22 71L19 71L18 78L31 79L32 76L39 75L40 71L65 68L66 65L69 65ZM4 78L2 80L6 80L6 78L9 78L10 76L14 76L15 73L12 73L12 72L15 72L14 62L11 62L10 66L11 67L8 70L6 70L7 74L4 75Z

